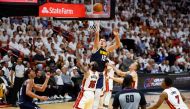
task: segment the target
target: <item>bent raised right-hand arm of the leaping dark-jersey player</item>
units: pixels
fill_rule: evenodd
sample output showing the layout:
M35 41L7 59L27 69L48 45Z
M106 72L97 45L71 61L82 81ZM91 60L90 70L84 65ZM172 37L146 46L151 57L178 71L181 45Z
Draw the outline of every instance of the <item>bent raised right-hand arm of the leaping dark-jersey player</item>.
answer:
M114 30L113 30L113 34L114 34L114 36L115 36L115 41L116 41L116 43L113 44L113 45L111 45L111 46L109 46L109 47L107 48L107 51L108 51L108 52L113 52L115 49L119 48L120 45L121 45L118 30L114 29Z

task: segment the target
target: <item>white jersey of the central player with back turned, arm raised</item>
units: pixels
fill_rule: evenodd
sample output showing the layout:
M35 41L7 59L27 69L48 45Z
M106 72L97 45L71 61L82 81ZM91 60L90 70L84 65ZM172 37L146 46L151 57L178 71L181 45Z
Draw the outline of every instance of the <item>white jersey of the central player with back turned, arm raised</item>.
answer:
M82 82L82 90L84 91L95 91L96 89L96 84L99 78L99 73L98 72L93 72L89 70L89 76L87 78L83 79Z

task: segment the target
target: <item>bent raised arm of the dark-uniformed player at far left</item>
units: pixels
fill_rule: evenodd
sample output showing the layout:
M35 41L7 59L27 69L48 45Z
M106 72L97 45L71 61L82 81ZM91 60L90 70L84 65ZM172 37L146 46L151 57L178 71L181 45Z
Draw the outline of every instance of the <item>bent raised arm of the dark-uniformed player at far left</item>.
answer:
M50 73L47 73L47 74L46 74L46 80L45 80L44 84L43 84L42 86L38 86L38 85L34 84L34 89L35 89L36 91L44 92L45 89L46 89L46 87L47 87L49 78L50 78Z

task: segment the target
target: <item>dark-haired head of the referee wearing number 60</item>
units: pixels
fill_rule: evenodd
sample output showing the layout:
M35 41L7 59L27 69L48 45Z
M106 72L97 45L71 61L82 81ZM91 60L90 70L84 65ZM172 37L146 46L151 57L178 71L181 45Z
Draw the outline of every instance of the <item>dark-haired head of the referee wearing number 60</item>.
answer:
M126 75L123 80L122 88L131 86L133 82L133 77L131 75Z

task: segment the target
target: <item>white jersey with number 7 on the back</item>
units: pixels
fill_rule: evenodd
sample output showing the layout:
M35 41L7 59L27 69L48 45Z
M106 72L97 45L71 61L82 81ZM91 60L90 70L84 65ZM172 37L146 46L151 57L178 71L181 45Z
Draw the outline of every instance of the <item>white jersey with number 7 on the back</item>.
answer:
M170 87L165 89L164 92L167 93L168 99L167 104L171 109L188 109L186 104L183 102L180 92L175 87Z

